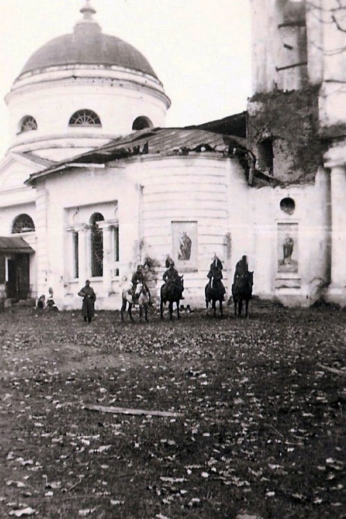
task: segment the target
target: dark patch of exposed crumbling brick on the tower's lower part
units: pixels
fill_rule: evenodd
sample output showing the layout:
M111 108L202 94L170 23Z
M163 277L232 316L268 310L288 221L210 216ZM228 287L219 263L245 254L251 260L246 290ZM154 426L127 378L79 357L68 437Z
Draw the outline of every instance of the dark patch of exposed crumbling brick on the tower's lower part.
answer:
M257 93L248 102L248 147L256 169L284 183L315 179L327 143L319 136L319 86ZM270 161L270 145L272 161Z

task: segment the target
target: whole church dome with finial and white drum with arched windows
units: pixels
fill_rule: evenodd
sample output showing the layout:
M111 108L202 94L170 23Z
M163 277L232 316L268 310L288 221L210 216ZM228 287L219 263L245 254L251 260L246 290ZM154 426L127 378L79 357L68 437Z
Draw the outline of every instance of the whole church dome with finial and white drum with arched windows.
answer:
M53 38L33 53L6 95L12 150L51 145L52 154L65 148L71 156L73 138L87 138L94 147L138 125L164 126L170 100L152 66L127 42L104 35L89 3L81 12L73 33ZM81 110L96 114L94 124L85 117L71 123ZM24 129L28 116L33 120Z

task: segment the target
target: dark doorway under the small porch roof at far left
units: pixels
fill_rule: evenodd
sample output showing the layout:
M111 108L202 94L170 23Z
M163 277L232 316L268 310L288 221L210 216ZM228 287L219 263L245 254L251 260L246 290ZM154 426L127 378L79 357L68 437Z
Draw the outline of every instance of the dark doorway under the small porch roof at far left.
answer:
M28 254L15 254L8 260L7 295L11 299L26 299L30 293Z

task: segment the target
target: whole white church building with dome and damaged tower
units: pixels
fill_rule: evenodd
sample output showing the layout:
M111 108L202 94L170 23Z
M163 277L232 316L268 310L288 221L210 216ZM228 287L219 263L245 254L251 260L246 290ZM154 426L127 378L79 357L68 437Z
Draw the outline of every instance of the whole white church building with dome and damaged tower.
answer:
M39 48L6 95L6 298L51 288L60 308L79 308L89 279L98 309L118 309L138 264L159 293L169 255L184 303L203 307L216 253L228 295L247 255L255 295L345 306L345 53L325 51L346 47L346 35L313 12L332 3L252 0L248 111L165 128L170 100L156 73L102 33L86 1L73 33Z

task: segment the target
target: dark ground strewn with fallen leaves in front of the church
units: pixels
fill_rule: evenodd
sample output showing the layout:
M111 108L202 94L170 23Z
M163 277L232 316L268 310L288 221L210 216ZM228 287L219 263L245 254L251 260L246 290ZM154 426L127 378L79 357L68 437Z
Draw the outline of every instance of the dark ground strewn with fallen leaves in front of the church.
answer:
M250 310L0 313L0 517L346 518L346 311Z

